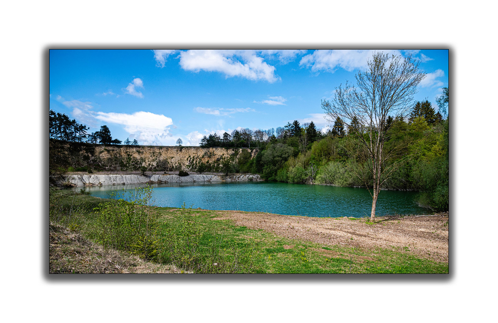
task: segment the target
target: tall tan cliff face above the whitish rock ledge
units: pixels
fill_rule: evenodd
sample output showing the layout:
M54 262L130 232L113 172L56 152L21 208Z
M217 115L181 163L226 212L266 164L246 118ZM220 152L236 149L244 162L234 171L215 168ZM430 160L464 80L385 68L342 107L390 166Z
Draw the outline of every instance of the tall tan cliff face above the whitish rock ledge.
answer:
M142 166L149 171L196 171L199 165L205 164L205 171L218 172L223 160L237 162L242 155L253 158L258 152L257 148L104 146L85 143L59 143L57 149L68 155L73 168L96 171L138 171Z

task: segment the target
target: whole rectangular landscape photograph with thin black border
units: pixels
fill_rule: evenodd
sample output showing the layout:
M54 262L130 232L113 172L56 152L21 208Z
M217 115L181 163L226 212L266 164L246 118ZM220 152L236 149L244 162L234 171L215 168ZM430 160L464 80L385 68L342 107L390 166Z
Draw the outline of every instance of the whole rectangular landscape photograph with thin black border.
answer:
M50 49L49 273L448 274L448 49Z

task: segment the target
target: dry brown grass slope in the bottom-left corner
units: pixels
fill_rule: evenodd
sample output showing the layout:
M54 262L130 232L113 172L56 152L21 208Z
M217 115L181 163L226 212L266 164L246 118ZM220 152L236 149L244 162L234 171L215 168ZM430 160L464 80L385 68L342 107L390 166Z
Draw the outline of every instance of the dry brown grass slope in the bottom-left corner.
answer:
M173 265L144 261L126 252L106 249L67 227L50 223L49 273L173 274Z

